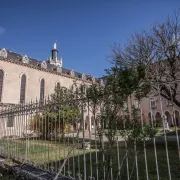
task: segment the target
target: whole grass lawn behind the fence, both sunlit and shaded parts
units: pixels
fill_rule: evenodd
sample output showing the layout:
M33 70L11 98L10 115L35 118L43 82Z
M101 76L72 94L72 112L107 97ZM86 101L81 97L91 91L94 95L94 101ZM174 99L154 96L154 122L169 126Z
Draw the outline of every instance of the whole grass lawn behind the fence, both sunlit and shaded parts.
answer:
M26 143L28 142L28 143ZM55 172L58 172L60 165L63 163L64 158L67 156L68 150L73 146L72 143L69 143L69 146L66 142L58 143L53 141L42 141L42 140L13 140L13 141L1 141L0 147L1 150L4 149L4 152L16 154L19 158L25 158L27 155L27 160L38 163L42 168L47 168L48 170L53 167ZM3 147L3 148L2 148ZM27 151L26 151L27 150ZM156 161L154 155L153 144L146 145L147 150L147 166L148 166L148 175L149 180L157 179L156 172ZM83 150L74 148L74 151L70 154L70 158L67 160L66 165L63 169L63 173L67 173L67 171L72 172L72 176L75 176L78 172L80 174L84 173L84 160L86 160L86 172L87 177L91 174L97 179L103 179L104 168L103 168L103 156L102 152L98 151L96 153L95 149L86 150L85 151L85 159L83 156ZM146 179L146 168L145 168L145 155L141 146L138 146L138 152L140 152L137 156L138 160L138 174L140 180ZM125 148L119 148L119 160L120 163L125 155ZM168 155L169 155L169 163L171 169L171 178L172 180L180 179L180 160L177 151L177 145L175 142L168 143ZM91 157L91 158L90 158ZM96 159L97 157L97 159ZM131 174L131 179L136 179L136 166L134 166L134 151L133 148L129 152L128 156L128 171ZM97 161L97 163L96 163ZM167 166L167 158L165 152L165 146L163 143L157 144L157 161L158 161L158 170L159 177L162 180L169 180L168 176L168 166ZM97 173L98 172L98 173ZM112 160L112 176L113 179L116 179L116 175L118 173L118 154L117 148L113 149L113 160ZM83 179L83 178L82 178ZM127 179L127 166L126 159L122 165L121 170L121 180Z

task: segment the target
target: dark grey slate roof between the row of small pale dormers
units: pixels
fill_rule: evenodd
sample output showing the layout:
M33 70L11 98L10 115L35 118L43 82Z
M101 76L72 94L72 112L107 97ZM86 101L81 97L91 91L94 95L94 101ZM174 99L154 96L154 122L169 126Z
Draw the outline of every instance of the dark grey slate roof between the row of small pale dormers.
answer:
M0 50L1 50L1 49L2 49L2 48L0 48ZM13 60L13 61L20 61L20 60L22 59L22 57L23 57L23 55L18 54L18 53L15 53L15 52L12 52L12 51L10 51L10 50L6 50L6 51L7 51L7 59L11 59L11 60ZM36 66L36 67L42 62L42 61L40 61L40 60L31 58L31 57L29 57L29 56L28 56L28 58L29 58L29 64L30 64L30 65L33 65L33 66ZM46 62L46 64L47 64L47 70L53 70L53 69L56 68L56 66L53 65L53 64L50 64L50 63L48 63L48 62ZM62 73L63 73L63 74L68 74L68 75L70 75L70 72L71 72L71 70L62 67ZM75 74L75 77L77 77L77 78L81 78L81 77L82 77L82 73L79 73L79 72L74 71L74 74ZM86 79L87 79L88 77L91 77L91 76L90 76L90 75L86 75ZM89 78L89 80L90 80L90 78Z

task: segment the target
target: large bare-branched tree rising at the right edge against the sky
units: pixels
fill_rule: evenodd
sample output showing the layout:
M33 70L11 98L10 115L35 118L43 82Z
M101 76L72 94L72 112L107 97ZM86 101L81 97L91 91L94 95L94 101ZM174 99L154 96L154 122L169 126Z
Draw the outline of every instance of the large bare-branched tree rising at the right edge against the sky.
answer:
M134 33L123 47L112 47L114 67L135 69L138 84L159 84L161 96L180 107L180 22L179 13L150 30ZM156 89L157 90L157 89Z

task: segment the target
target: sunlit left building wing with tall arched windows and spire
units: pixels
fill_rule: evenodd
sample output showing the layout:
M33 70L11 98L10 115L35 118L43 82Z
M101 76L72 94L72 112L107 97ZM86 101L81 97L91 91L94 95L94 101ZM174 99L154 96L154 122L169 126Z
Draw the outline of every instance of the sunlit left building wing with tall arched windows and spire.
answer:
M51 51L50 58L40 61L21 55L5 48L0 49L0 103L3 106L9 104L22 104L44 100L54 92L59 83L60 86L69 89L74 82L76 84L90 85L92 82L102 83L91 75L69 70L63 67L62 58L58 58L56 43ZM91 118L85 116L85 127L91 129ZM16 129L19 123L13 122L13 118L7 118L2 124L3 129ZM2 128L1 128L2 129Z

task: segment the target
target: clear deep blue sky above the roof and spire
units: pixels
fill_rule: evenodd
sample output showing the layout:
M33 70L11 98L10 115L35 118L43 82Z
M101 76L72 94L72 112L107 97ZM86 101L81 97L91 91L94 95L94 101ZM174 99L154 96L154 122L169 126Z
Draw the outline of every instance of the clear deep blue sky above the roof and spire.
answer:
M0 0L0 48L44 61L56 41L63 67L101 77L114 43L179 8L180 0Z

